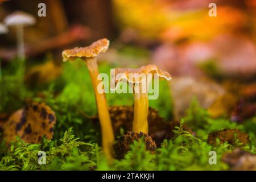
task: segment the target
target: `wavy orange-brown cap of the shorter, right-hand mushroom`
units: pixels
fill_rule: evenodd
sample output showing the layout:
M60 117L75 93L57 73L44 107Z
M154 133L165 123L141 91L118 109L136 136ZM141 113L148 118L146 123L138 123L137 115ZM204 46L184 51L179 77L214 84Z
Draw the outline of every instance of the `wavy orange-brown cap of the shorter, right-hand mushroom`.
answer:
M132 77L129 77L130 73L134 75ZM140 78L141 74L147 75L149 73L153 75L156 74L160 79L166 79L167 81L170 81L172 78L168 72L163 71L154 64L148 64L141 68L115 68L115 71L112 72L111 77L112 79L115 79L115 83L126 80L127 82L134 84L142 82L142 79ZM114 90L115 88L110 89Z

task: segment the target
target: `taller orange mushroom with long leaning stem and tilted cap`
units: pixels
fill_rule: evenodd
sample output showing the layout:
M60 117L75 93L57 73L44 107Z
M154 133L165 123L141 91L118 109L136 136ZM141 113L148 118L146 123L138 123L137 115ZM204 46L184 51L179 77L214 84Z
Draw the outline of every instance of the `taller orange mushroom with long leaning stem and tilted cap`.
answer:
M92 80L93 90L96 97L98 117L100 119L101 133L102 133L102 149L108 159L113 158L113 143L114 133L110 119L108 104L106 101L105 93L99 93L97 86L100 81L97 79L98 65L96 56L101 52L106 52L109 47L108 39L100 39L94 42L91 46L74 48L63 51L63 61L75 60L80 58L85 61L89 70L90 78Z

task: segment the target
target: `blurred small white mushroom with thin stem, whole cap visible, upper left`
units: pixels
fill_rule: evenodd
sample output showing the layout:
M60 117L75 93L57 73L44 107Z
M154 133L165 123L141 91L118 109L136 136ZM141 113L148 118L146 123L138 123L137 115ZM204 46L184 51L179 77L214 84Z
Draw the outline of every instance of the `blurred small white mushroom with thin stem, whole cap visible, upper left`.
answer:
M24 59L24 39L23 28L35 24L36 20L34 16L24 13L22 11L15 11L14 13L6 16L4 22L7 26L15 26L17 34L17 53L18 57Z

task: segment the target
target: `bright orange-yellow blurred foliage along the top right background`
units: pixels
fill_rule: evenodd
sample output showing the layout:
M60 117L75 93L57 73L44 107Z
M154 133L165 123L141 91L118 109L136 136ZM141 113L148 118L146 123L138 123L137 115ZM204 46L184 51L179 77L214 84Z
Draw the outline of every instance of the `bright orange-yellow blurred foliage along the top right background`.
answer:
M245 12L236 7L222 5L218 6L218 15L212 18L208 15L207 6L200 7L200 1L196 8L191 9L182 6L179 1L113 2L117 23L122 30L129 27L141 38L163 42L183 39L209 40L217 34L244 27L248 21ZM193 3L187 6L193 6Z

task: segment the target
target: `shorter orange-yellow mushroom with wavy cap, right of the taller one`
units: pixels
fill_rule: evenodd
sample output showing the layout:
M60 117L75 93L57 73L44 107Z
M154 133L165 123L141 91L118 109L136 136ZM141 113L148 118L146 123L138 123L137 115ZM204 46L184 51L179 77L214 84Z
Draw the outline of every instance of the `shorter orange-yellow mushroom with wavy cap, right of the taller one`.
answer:
M146 75L142 77L141 75ZM152 81L148 74L156 74L159 78L171 80L169 73L162 71L156 65L146 65L141 68L116 68L112 79L115 77L115 82L126 81L129 85L133 86L134 89L134 118L133 118L133 131L148 134L148 86ZM133 76L131 76L133 75ZM112 88L115 90L117 87Z

